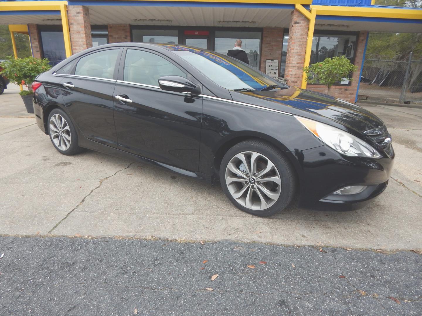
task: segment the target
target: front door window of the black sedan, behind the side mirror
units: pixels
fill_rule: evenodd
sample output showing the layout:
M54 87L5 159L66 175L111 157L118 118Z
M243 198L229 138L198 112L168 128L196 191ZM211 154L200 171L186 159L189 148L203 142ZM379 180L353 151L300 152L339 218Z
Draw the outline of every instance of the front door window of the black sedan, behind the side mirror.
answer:
M137 49L126 51L124 81L158 86L158 78L170 75L186 78L182 70L161 56Z

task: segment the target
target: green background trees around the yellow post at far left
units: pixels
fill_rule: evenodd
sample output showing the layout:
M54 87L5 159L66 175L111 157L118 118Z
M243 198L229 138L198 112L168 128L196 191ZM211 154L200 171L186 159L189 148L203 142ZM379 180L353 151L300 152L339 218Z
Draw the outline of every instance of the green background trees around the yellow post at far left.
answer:
M32 56L29 36L19 33L14 33L14 35L18 57ZM10 37L9 27L7 25L0 25L0 59L6 59L7 56L13 56L12 39Z

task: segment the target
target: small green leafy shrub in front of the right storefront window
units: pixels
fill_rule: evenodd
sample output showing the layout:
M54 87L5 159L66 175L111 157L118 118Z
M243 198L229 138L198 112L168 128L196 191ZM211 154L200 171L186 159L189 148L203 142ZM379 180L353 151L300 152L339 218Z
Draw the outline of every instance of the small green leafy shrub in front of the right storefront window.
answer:
M323 62L311 64L303 68L306 81L327 86L327 94L334 83L341 80L352 80L350 74L357 69L345 56L326 58Z

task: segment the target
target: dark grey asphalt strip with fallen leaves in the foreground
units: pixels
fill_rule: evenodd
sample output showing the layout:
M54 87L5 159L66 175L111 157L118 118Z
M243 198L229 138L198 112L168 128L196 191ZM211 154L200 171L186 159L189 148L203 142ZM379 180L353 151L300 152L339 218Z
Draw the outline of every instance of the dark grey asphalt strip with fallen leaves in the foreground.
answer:
M322 250L0 237L0 314L421 315L420 254Z

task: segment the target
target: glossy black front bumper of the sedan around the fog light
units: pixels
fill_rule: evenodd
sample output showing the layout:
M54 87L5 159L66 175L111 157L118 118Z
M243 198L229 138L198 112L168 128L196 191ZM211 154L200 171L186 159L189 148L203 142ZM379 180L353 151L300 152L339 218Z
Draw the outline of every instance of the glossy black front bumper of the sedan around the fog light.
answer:
M346 157L325 145L288 155L299 177L299 207L312 209L361 208L385 190L394 164L394 153L381 159ZM350 185L367 187L357 194L333 194Z

